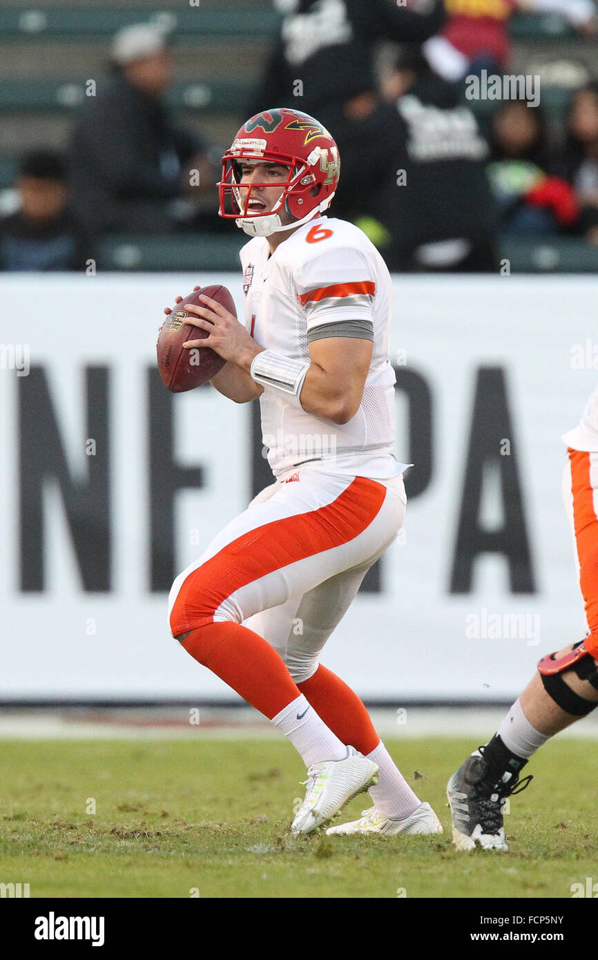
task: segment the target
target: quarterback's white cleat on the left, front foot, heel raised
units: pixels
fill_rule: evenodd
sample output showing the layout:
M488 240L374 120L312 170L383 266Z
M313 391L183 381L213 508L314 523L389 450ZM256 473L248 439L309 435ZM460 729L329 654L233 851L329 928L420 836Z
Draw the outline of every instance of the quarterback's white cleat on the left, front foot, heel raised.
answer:
M294 833L311 833L340 813L349 800L378 782L378 765L354 747L344 760L325 760L307 771L305 800L291 824Z

